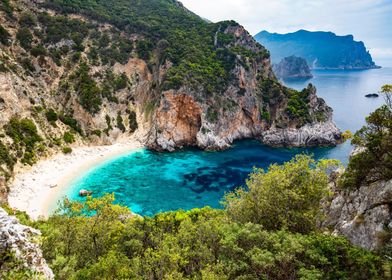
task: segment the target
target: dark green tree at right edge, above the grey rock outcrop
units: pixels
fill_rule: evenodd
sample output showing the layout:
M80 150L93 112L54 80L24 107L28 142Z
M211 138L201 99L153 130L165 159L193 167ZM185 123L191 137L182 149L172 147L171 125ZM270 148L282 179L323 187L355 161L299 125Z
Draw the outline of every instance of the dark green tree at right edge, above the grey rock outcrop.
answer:
M392 86L383 87L387 105L366 118L367 125L355 133L352 144L363 149L354 155L342 178L342 186L392 179Z

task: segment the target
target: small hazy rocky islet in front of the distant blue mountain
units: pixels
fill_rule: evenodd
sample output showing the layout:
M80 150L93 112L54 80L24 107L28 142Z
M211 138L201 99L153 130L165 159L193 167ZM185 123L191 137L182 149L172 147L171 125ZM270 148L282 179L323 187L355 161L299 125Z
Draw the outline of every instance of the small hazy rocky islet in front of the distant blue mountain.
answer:
M302 57L289 56L282 59L279 64L274 64L272 69L278 78L312 78L309 65Z

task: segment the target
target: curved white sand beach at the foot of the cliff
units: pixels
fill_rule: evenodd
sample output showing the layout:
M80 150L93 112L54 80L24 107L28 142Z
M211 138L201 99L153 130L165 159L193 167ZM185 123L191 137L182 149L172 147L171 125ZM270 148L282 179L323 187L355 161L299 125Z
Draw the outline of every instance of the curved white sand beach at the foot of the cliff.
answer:
M46 218L50 206L61 199L70 182L97 164L141 148L137 141L111 146L80 147L69 155L57 154L33 167L17 171L10 184L8 203L25 211L32 219Z

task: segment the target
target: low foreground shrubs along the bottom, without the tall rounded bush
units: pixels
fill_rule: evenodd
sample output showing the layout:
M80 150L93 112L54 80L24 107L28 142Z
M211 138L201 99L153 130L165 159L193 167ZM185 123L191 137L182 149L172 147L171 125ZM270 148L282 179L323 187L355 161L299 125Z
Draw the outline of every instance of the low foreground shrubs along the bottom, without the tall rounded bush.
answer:
M57 279L382 279L381 257L334 236L266 231L210 208L132 217L113 195L38 223ZM208 276L208 277L207 277Z

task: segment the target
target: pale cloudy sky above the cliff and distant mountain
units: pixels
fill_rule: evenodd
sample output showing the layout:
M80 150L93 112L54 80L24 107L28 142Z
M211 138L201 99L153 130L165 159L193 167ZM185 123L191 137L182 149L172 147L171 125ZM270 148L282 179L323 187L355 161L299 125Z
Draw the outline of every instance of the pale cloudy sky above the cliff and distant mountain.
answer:
M376 63L392 66L392 0L180 1L213 22L234 19L252 35L299 29L352 34L365 43Z

